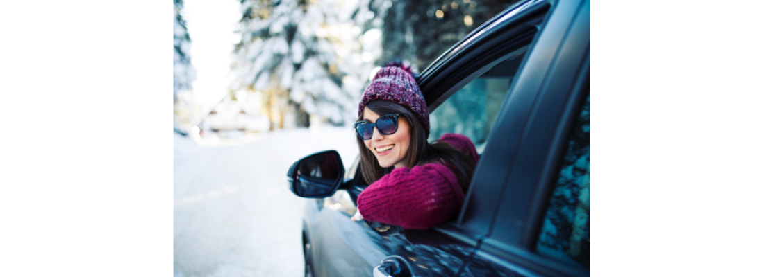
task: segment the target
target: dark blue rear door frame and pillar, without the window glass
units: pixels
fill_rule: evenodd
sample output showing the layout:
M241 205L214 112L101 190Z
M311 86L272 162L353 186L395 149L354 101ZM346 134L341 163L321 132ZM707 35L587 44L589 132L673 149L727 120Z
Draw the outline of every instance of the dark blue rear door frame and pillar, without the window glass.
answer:
M552 5L554 11L529 53L526 66L521 68L519 79L510 88L510 99L494 127L504 133L494 132L497 138L490 138L517 140L510 141L506 148L490 145L489 140L486 147L487 153L503 154L510 160L503 163L505 174L474 180L496 182L503 178L503 187L490 192L471 190L459 224L484 228L481 224L490 217L490 231L476 254L510 271L523 275L589 275L588 270L535 252L568 133L583 96L590 91L591 3L566 0ZM483 215L483 221L474 221L471 207L480 205L486 196L494 197L497 212Z

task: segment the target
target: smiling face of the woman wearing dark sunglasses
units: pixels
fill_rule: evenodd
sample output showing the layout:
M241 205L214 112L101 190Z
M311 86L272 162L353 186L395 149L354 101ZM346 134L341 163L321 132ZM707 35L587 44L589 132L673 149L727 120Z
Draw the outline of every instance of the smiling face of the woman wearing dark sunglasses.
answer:
M379 117L379 114L364 108L364 120L376 123ZM403 158L406 158L410 142L409 122L403 116L398 118L398 130L392 135L383 135L374 127L374 135L371 139L364 139L366 148L369 148L374 153L374 157L377 157L380 167L405 166L406 162Z

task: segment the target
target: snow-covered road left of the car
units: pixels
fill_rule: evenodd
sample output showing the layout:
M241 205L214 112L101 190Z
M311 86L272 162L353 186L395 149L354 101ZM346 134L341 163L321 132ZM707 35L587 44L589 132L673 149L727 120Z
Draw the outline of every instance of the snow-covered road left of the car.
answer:
M173 135L173 276L301 276L306 199L286 186L298 158L358 154L349 128L293 129L199 146Z

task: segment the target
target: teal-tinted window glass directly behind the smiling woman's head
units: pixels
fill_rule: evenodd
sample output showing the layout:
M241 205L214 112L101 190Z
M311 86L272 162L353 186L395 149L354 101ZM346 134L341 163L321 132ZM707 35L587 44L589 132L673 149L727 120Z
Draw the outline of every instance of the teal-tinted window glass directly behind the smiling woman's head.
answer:
M430 142L447 132L466 135L478 149L478 154L482 154L525 53L526 48L515 51L510 58L466 84L430 113Z

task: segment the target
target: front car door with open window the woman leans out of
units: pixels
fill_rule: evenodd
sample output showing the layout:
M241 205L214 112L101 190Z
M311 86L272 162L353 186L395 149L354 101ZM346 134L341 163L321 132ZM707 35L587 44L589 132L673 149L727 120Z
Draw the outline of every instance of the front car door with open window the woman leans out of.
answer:
M478 27L471 36L422 72L419 84L431 111L432 142L445 132L467 135L487 151L497 116L510 98L510 88L546 18L549 5L522 2ZM496 140L501 143L499 140ZM473 180L493 174L494 157L482 155ZM471 255L490 229L469 226L454 218L429 230L406 230L376 222L351 221L355 199L367 186L358 160L347 172L348 183L334 196L309 202L306 240L311 241L312 261L319 276L371 275L387 256L400 256L416 276L449 276L465 272ZM485 177L478 177L479 174ZM498 183L471 186L500 188ZM466 206L465 206L466 208ZM495 205L473 205L471 212L493 218ZM464 213L464 212L462 212ZM464 216L463 218L471 218ZM481 221L485 218L473 218Z

